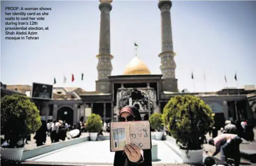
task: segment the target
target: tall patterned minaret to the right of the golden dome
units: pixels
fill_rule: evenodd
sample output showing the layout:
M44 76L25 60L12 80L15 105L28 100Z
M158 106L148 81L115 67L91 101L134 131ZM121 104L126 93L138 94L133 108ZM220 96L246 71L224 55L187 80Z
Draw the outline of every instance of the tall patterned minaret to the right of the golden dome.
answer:
M174 61L172 24L170 21L171 1L159 1L158 8L161 11L161 45L162 52L160 69L162 72L163 91L178 92L177 79L175 78L176 64Z

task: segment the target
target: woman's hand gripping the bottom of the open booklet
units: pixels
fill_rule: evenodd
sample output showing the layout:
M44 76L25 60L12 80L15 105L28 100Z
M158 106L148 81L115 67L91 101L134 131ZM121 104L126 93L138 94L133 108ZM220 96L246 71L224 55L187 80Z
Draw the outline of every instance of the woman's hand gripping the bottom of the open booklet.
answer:
M135 144L128 144L124 147L124 152L132 162L137 162L141 158L141 150Z

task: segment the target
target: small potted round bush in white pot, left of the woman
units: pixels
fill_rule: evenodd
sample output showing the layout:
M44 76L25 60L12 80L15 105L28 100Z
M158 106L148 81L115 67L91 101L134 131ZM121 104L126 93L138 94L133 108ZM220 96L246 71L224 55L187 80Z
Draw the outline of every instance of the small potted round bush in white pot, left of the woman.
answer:
M98 133L102 129L101 117L97 114L91 114L90 117L88 117L86 125L90 133L91 141L96 141Z

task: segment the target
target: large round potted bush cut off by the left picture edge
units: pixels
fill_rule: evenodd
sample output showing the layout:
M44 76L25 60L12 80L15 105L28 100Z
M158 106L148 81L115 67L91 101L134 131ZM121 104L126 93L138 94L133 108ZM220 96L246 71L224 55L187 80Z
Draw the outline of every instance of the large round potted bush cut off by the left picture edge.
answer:
M1 158L21 160L23 140L40 126L39 110L27 96L14 94L1 98L1 132L5 136Z

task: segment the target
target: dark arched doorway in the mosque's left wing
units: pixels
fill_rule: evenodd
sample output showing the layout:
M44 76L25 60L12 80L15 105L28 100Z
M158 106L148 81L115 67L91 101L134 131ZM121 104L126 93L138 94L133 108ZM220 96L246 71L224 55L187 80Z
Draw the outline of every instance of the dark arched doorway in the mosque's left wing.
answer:
M74 110L69 106L62 106L58 109L57 121L66 121L67 124L73 125Z

